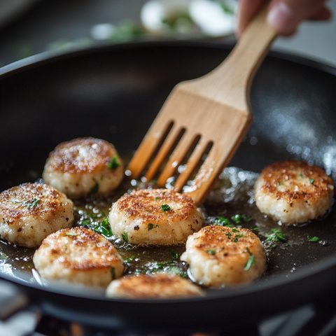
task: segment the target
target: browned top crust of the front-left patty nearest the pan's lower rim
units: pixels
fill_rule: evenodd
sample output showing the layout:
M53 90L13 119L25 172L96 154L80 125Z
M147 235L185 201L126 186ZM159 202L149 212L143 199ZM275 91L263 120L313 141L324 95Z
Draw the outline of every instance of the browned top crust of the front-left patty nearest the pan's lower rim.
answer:
M82 248L85 252L85 258L79 260L68 255L68 251L71 253L71 244L78 251ZM41 248L43 249L47 246L50 246L51 249L48 253L43 253L45 258L49 256L51 259L57 258L58 262L62 262L62 265L69 269L80 271L111 269L116 263L120 262L113 244L102 235L98 235L86 228L59 230L43 240Z

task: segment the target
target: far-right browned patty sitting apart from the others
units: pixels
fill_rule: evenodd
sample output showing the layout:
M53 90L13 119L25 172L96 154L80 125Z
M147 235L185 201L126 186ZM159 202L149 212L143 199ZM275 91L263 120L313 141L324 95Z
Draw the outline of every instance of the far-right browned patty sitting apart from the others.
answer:
M305 223L332 205L334 185L323 169L286 160L262 169L254 186L258 209L282 223Z

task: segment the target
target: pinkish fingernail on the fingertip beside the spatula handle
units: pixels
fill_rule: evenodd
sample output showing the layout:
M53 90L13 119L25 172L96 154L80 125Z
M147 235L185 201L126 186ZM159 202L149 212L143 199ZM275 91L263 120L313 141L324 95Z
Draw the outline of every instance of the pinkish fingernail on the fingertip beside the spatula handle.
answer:
M295 25L295 14L281 1L269 10L267 23L277 31L288 31Z

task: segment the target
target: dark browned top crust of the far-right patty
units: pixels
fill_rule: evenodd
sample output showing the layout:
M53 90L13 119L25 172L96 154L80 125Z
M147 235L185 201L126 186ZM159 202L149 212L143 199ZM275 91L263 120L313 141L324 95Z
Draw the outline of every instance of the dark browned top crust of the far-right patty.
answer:
M295 186L297 186L295 180L300 177L300 174L303 179L314 180L314 183L300 184L299 190L295 191ZM277 200L287 202L297 199L316 202L321 197L327 197L330 193L328 186L333 186L332 179L325 174L323 169L298 160L286 160L269 165L262 169L260 177L263 179L261 190L272 194ZM284 181L290 188L283 191L278 190Z

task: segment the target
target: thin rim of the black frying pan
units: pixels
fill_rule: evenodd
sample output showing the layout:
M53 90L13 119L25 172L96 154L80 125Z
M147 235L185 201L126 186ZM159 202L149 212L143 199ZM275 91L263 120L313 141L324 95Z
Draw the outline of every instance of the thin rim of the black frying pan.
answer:
M27 57L25 59L21 59L17 62L13 62L6 66L0 68L0 80L3 78L7 78L9 76L13 76L16 73L20 73L21 71L27 71L30 69L34 69L35 67L51 64L52 62L59 62L64 59L72 59L76 57L81 57L84 55L94 55L95 53L99 52L107 52L113 50L125 50L125 49L139 49L139 48L171 48L171 47L188 47L188 48L216 48L216 49L223 49L223 50L230 50L232 49L233 45L230 44L219 44L209 41L137 41L132 43L118 43L114 45L99 45L93 48L87 48L83 50L68 50L66 52L55 52L55 51L48 51L42 52L41 54L37 54L31 57ZM271 51L267 57L274 57L276 59L284 59L286 62L294 62L297 64L302 64L304 66L309 66L313 69L318 69L320 71L330 73L332 75L336 75L336 68L330 66L328 64L323 64L322 62L318 62L313 59L307 59L305 57L288 54L286 52L279 52L279 51ZM314 265L314 266L313 266ZM301 281L302 279L307 279L309 276L314 276L319 274L330 267L336 267L336 258L335 255L331 255L328 258L320 260L318 263L308 265L306 267L301 267L300 269L295 272L295 274L291 274L290 279L286 278L283 279L282 276L276 276L272 279L268 279L267 281L258 281L255 283L250 284L246 287L241 288L230 288L225 290L216 290L214 292L210 292L209 295L204 297L195 297L195 298L181 298L181 299L160 299L160 300L137 300L136 302L141 304L145 303L148 304L149 302L153 304L164 304L167 302L195 302L195 301L204 301L204 300L218 300L228 297L237 297L239 295L244 296L248 295L249 293L255 292L262 292L264 290L272 289L272 288L279 288L279 286L287 286L288 283L294 283L296 281ZM313 266L313 269L311 267ZM70 295L70 296L77 296L76 293L66 293L66 290L57 290L52 286L48 286L48 288L38 285L38 283L29 283L23 279L19 279L13 276L9 276L8 274L2 274L0 272L0 279L5 279L7 281L17 283L20 286L27 286L29 288L33 288L36 290L44 290L48 293L55 293L59 295ZM215 294L212 294L215 293ZM84 297L87 299L94 299L94 300L106 300L106 301L113 301L113 302L134 302L134 300L127 300L127 299L111 299L106 297L97 297L97 295L92 295L92 293L88 293L87 291L83 290L78 292L78 297Z

